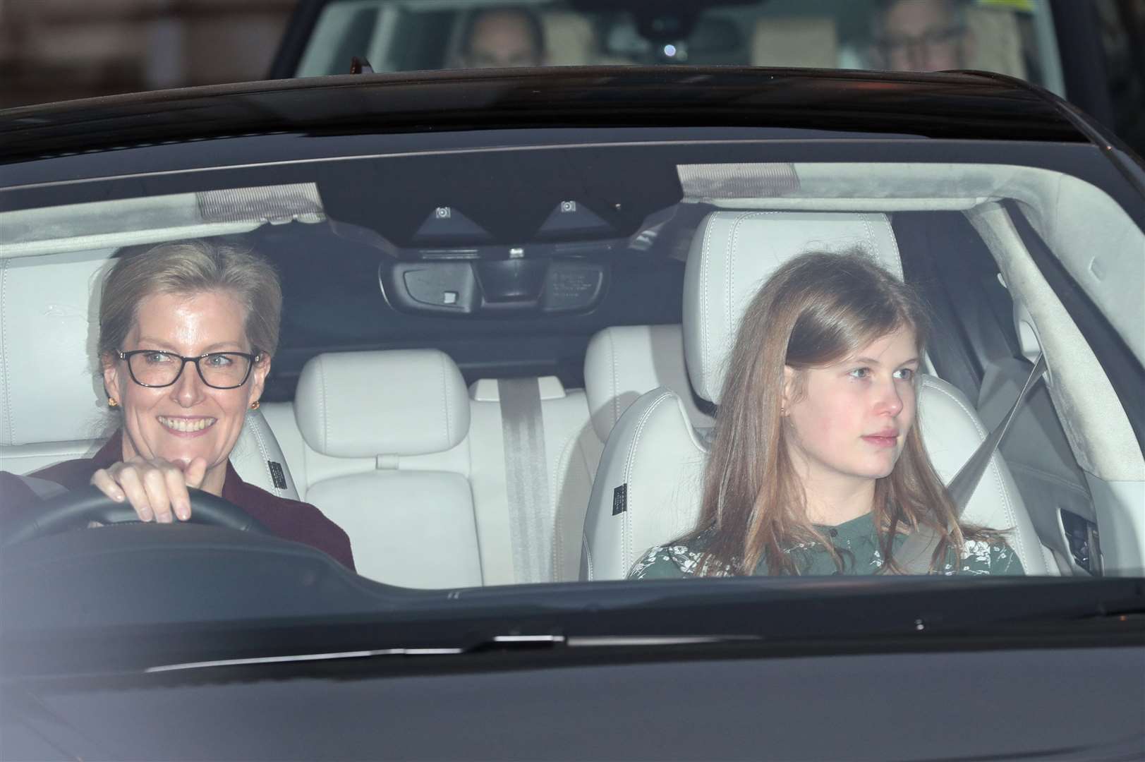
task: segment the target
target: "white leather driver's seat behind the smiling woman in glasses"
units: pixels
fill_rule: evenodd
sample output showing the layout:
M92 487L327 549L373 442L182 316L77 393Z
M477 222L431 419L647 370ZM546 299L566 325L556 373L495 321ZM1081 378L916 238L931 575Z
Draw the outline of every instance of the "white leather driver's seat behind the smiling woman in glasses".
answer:
M95 358L93 296L113 253L0 258L0 470L27 474L90 456L118 425ZM231 463L245 481L298 498L258 410L247 414Z

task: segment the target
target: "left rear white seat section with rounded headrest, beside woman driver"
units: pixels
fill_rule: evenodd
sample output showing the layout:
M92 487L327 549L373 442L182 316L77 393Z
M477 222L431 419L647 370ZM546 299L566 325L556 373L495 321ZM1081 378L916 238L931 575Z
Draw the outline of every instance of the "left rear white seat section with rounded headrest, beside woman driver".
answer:
M346 531L360 574L398 586L481 584L459 447L469 403L452 360L435 349L319 354L302 368L294 417L306 445L325 456L307 474L303 500ZM403 463L425 455L436 457Z

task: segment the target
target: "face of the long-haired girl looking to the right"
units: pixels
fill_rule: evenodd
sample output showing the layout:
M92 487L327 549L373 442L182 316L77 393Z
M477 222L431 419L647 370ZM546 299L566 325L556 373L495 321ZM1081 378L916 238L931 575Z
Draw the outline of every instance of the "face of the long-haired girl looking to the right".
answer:
M802 371L784 368L789 449L813 482L874 480L891 473L915 422L915 332L901 329L846 360Z

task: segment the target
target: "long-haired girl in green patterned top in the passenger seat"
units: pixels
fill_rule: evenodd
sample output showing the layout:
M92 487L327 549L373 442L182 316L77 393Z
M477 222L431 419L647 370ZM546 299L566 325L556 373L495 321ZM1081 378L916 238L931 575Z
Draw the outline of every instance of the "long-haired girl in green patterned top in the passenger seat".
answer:
M894 573L918 526L931 572L1021 574L997 532L961 526L923 448L926 315L863 254L808 253L752 298L728 359L695 531L631 579Z

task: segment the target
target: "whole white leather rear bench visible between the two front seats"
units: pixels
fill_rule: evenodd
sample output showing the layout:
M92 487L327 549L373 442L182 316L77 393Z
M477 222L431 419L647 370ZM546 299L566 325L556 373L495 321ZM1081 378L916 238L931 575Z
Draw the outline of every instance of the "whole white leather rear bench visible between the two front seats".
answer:
M505 438L502 393L536 394L540 442ZM576 580L603 445L552 376L466 390L436 349L318 355L293 406L264 406L302 498L350 536L364 576L417 588ZM515 495L514 468L536 493Z

